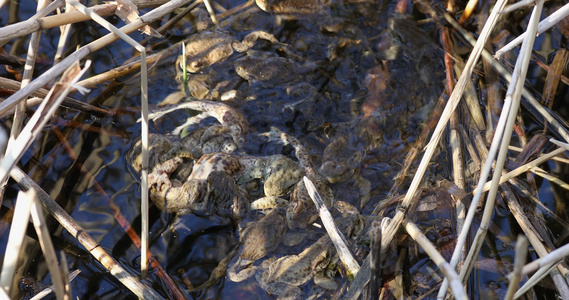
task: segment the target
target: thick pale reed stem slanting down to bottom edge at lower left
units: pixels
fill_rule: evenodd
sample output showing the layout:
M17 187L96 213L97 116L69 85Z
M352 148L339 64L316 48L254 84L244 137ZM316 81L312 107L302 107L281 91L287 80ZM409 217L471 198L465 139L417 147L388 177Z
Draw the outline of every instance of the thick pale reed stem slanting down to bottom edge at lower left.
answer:
M57 204L44 190L41 189L26 173L20 168L14 167L10 176L24 189L34 189L42 201L43 206L49 213L74 236L101 265L103 265L111 275L118 279L126 288L139 298L144 299L163 299L156 291L143 285L124 269L112 256L110 256L73 218Z

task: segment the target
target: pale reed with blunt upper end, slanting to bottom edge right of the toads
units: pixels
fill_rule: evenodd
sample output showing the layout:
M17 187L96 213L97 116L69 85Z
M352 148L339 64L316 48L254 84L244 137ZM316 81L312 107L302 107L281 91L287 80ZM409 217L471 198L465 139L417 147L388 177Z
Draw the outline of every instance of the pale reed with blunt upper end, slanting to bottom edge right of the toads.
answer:
M409 235L425 250L429 258L435 262L439 270L445 275L445 278L450 282L450 288L455 299L468 299L464 286L460 281L458 273L440 254L440 252L435 248L435 246L429 241L429 239L421 232L419 227L415 223L406 220L405 230Z

